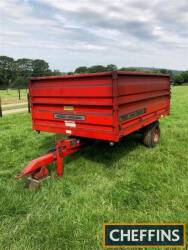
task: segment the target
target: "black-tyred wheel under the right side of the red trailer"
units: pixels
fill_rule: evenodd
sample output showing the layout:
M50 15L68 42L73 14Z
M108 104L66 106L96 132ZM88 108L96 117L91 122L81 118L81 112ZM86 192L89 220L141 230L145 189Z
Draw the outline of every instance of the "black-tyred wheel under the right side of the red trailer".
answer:
M160 140L159 122L147 126L143 131L143 143L146 147L153 148Z

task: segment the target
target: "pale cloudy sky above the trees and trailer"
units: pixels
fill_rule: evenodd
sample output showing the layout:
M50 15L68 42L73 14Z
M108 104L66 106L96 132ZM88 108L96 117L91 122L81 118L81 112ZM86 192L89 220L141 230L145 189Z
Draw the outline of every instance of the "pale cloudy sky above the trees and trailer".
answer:
M0 55L188 70L188 1L0 0Z

